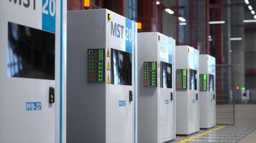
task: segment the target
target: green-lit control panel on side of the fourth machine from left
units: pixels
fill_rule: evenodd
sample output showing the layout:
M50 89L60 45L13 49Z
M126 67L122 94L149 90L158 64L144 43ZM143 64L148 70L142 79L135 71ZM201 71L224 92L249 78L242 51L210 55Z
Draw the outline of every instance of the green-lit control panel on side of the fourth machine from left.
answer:
M176 89L177 91L186 91L188 89L188 71L187 69L176 70Z

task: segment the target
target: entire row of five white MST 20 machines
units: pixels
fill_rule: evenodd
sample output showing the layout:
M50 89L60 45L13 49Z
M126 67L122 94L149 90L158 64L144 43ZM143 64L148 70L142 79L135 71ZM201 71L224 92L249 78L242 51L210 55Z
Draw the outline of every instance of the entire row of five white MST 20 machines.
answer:
M107 9L68 11L62 33L59 7L44 26L15 4L1 2L1 143L161 143L215 126L214 57Z

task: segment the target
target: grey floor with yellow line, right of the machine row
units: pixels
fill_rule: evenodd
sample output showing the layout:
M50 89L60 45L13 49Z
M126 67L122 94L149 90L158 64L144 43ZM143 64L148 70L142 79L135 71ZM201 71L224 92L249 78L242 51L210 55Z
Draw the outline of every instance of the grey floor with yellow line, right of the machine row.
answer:
M220 108L225 108L225 105ZM230 107L229 107L230 108ZM227 109L227 107L226 107ZM229 109L230 110L230 109ZM230 110L232 111L232 110ZM178 143L254 143L256 142L256 104L235 105L235 125L216 126L214 129L201 130L189 137L177 137ZM226 116L226 115L225 115ZM230 122L224 117L225 122Z

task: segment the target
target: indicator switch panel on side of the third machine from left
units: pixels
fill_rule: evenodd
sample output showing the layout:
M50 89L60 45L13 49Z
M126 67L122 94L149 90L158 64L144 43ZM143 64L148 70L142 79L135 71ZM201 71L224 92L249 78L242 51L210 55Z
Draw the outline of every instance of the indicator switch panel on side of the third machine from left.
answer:
M157 87L157 61L144 62L144 86Z

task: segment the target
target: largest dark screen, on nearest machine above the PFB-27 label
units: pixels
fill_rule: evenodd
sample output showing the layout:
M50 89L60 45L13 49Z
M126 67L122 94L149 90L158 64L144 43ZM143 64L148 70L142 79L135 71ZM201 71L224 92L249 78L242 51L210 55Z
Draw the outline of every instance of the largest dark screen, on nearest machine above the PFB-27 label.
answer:
M8 76L55 79L55 34L8 24Z

